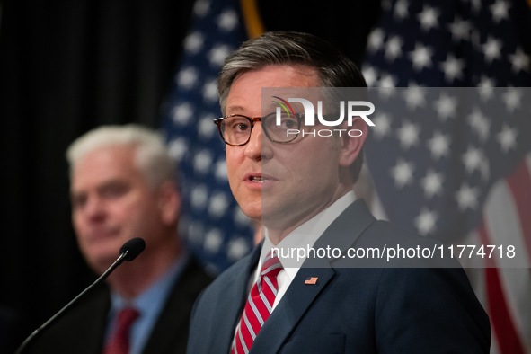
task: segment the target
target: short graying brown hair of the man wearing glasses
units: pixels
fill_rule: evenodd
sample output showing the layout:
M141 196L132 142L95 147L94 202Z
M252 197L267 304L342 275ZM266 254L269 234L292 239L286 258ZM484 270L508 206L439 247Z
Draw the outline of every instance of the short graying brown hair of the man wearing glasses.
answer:
M217 78L219 104L226 115L226 99L236 77L265 66L308 66L317 71L321 87L367 87L358 67L329 42L301 32L266 32L247 40L225 59ZM363 151L350 165L352 180L358 181Z

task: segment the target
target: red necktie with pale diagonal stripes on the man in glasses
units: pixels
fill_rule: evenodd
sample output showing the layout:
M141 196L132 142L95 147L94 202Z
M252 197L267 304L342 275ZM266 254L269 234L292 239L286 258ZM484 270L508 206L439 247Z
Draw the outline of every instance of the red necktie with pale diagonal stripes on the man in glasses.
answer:
M279 289L277 276L280 270L282 264L279 258L271 257L270 252L261 266L260 278L254 283L247 297L231 354L247 354L251 350L254 338L273 311L272 307Z

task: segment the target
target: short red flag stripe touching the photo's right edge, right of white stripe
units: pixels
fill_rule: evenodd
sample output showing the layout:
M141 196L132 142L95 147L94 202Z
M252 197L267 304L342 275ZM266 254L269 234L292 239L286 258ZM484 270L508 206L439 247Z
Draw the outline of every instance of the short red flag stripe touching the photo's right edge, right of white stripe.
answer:
M507 184L518 209L522 235L527 246L527 255L531 260L531 176L527 169L526 159L518 165L514 173L507 178Z

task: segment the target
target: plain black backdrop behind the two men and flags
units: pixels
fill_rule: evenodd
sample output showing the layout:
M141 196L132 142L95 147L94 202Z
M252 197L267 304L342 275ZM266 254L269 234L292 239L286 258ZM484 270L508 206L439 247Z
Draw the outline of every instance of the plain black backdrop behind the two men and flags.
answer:
M0 4L0 305L27 335L95 279L71 226L66 147L102 124L160 126L193 0ZM363 0L259 7L266 30L314 33L357 64L379 13Z

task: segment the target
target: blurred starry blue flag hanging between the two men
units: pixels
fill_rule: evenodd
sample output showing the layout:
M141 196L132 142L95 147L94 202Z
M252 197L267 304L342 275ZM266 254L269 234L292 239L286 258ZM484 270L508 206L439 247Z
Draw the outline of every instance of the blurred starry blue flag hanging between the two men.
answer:
M179 162L179 233L212 273L252 249L252 225L226 176L225 143L213 120L221 116L217 75L247 35L237 0L198 0L172 92L163 105L163 130Z

